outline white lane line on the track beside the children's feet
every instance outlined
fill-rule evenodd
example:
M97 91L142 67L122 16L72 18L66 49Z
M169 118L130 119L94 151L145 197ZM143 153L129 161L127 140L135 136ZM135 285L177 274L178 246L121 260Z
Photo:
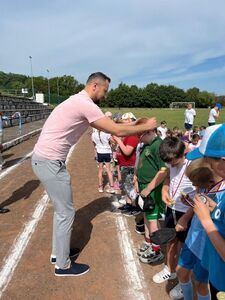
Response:
M127 220L124 219L123 216L116 216L115 220L118 229L117 234L120 251L123 257L127 281L130 285L128 298L135 300L151 300L141 266L137 259L135 259L133 253L135 248L128 228Z

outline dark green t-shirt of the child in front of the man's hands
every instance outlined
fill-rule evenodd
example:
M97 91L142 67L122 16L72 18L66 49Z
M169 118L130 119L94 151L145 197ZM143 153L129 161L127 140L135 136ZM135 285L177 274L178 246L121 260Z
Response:
M161 142L162 140L159 137L155 137L150 144L145 144L141 149L136 171L139 184L151 182L157 172L165 167L165 163L159 156Z

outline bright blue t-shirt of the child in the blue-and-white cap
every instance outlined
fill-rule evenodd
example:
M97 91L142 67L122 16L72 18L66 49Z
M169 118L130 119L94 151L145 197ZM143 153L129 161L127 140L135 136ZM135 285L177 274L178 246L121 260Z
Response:
M213 223L225 239L225 192L217 194L217 206L211 214ZM225 261L220 257L208 236L201 264L209 272L209 280L219 291L225 292Z

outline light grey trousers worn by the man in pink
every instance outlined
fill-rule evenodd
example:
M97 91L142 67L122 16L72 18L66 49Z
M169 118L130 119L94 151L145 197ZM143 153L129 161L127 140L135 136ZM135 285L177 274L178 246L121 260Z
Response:
M33 154L32 168L53 202L52 254L56 255L57 267L70 264L70 239L75 216L70 175L65 162L48 160Z

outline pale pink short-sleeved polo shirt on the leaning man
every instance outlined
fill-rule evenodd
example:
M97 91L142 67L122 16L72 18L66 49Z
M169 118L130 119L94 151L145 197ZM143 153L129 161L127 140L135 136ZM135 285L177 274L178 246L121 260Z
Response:
M46 120L34 153L51 160L66 160L67 154L89 124L105 117L83 90L58 105Z

